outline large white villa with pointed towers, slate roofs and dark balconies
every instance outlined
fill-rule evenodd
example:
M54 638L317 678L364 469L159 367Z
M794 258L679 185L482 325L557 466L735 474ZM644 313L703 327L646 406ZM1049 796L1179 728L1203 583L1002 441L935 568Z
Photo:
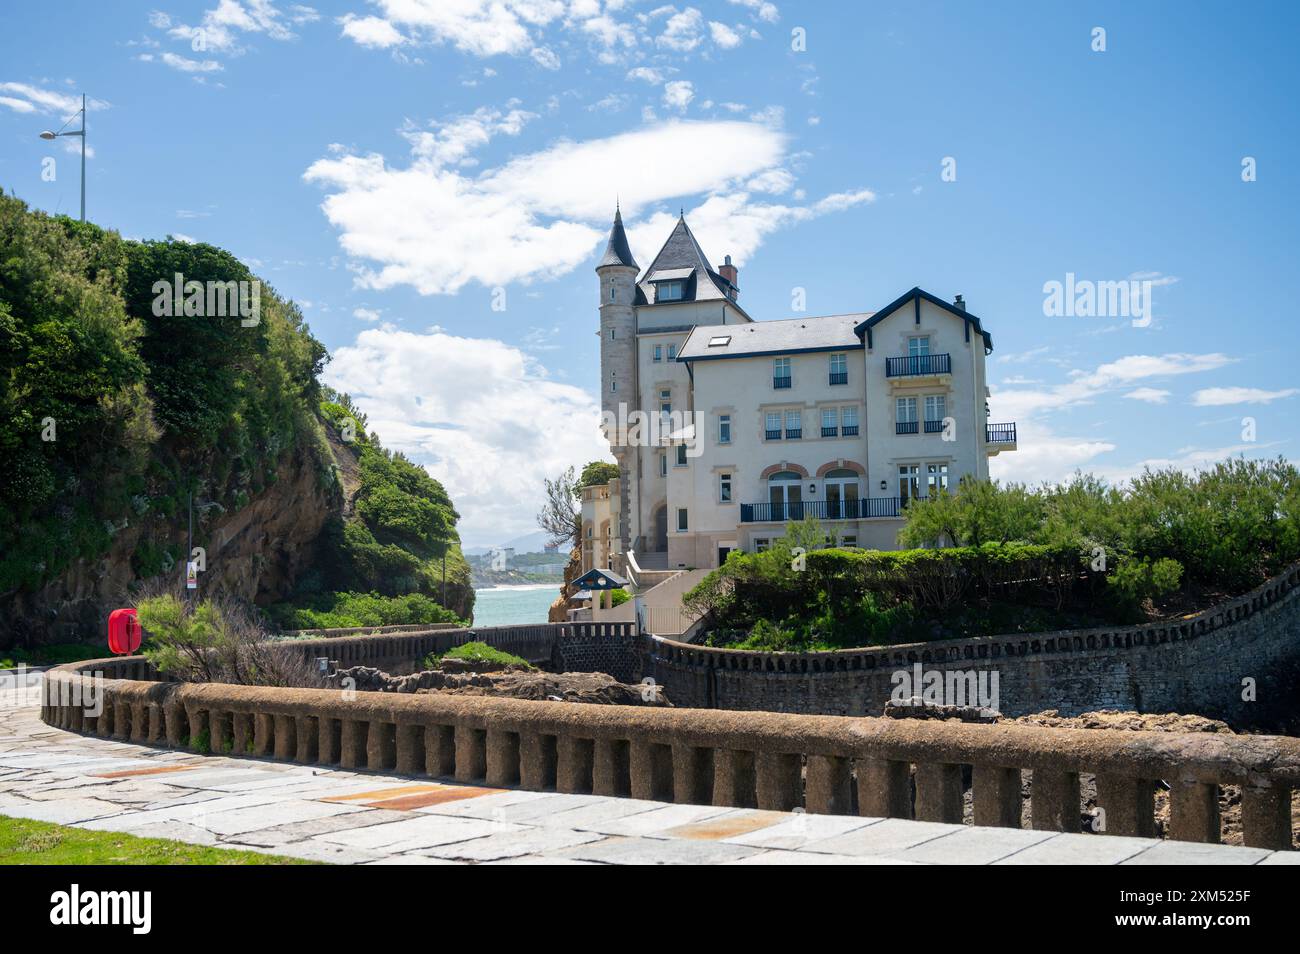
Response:
M841 545L896 548L909 500L1015 450L1015 425L987 420L993 339L961 295L755 321L731 256L714 269L684 217L642 273L619 212L595 272L607 421L672 424L654 441L607 426L620 477L582 493L584 571L628 572L629 551L633 571L708 569L809 515Z

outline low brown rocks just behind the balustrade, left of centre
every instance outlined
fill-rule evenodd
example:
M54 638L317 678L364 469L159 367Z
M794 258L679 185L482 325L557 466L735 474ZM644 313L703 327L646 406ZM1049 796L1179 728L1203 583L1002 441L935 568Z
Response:
M370 693L447 693L597 706L672 706L659 686L619 682L603 672L537 672L516 665L494 672L426 669L410 676L390 676L368 665L355 665L326 678L326 688L343 686Z

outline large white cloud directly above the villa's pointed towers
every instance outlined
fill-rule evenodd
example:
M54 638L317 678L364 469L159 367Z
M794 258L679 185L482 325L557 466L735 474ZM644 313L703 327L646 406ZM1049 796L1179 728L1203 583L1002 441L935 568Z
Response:
M341 147L313 162L304 178L328 191L321 208L341 231L358 282L455 294L468 282L495 287L556 278L590 261L608 233L615 195L629 221L647 205L707 196L692 212L692 226L698 224L702 240L723 243L708 247L741 263L775 229L875 199L859 190L801 207L729 192L789 160L780 130L738 121L670 121L604 139L560 140L477 175L465 172L473 149L517 133L530 117L478 110L407 130L412 159L404 168ZM671 229L663 216L634 231L662 242Z

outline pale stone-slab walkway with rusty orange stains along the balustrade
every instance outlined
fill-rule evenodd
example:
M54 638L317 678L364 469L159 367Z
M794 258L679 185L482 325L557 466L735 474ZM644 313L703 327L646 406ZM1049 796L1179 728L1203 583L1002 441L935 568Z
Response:
M0 815L339 864L1295 864L1300 853L562 795L78 736L0 691ZM0 863L4 858L0 857Z

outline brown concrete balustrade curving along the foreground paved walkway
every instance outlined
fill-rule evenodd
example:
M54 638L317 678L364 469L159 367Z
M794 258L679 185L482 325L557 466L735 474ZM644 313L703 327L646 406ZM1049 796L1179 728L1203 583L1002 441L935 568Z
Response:
M121 660L112 660L109 664ZM156 745L304 764L399 771L534 790L684 803L1079 831L1079 776L1093 775L1106 834L1221 838L1218 792L1242 786L1247 845L1291 846L1300 740L1043 729L779 712L588 706L486 697L343 693L109 678L99 715L64 702L99 663L47 673L51 725ZM138 665L121 667L139 672Z

